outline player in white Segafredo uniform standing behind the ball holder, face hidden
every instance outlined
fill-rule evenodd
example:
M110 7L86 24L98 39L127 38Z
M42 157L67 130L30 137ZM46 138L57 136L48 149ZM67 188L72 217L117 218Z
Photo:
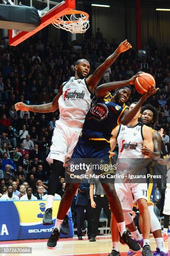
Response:
M134 108L135 105L136 102L132 103L129 107L129 110ZM139 110L128 125L117 126L117 128L112 131L113 137L111 138L110 142L112 145L112 150L116 146L116 143L118 143L118 158L122 159L120 160L120 164L122 164L122 162L126 164L128 162L127 159L130 159L130 162L132 164L133 159L144 158L141 153L141 149L143 146L147 146L148 148L153 150L151 130L146 125L138 122L138 118L140 118L140 116L141 114ZM125 171L125 173L126 172L127 171ZM115 179L115 189L122 205L126 225L132 223L133 221L131 220L131 218L129 219L128 212L132 212L134 203L138 204L140 209L139 223L142 230L143 239L140 233L136 231L135 226L134 230L132 230L132 235L141 246L144 243L142 255L147 254L147 256L151 256L152 251L150 250L149 246L150 214L147 208L147 183L124 183L123 180L121 181L119 179ZM112 222L112 227L114 226L115 223ZM110 256L118 255L116 253L116 251L118 250L118 241L116 241L117 236L115 236L115 231L115 228L112 229L112 241L114 248ZM133 254L135 253L132 253L131 255Z

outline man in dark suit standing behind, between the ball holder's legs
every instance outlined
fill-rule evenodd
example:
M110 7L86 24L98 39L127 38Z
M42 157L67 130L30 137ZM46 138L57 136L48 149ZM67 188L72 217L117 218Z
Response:
M86 209L86 218L87 218L87 233L88 238L91 237L91 222L92 222L92 208L90 201L90 172L86 172L87 179L84 178L81 180L79 185L79 192L76 199L76 209L77 209L77 236L79 240L82 238L82 228L84 226L84 209Z

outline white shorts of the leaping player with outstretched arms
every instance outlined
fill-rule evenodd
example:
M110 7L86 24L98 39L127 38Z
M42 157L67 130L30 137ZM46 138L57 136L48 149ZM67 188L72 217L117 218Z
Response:
M71 158L81 130L82 128L70 127L60 120L57 120L53 132L50 153L46 160L53 164L53 159L65 163L67 158Z

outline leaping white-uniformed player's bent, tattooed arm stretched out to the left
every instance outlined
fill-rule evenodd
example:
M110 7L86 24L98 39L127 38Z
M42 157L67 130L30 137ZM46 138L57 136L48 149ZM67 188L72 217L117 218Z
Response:
M17 102L15 104L15 110L33 111L39 113L55 112L58 109L58 99L63 93L63 85L64 84L61 85L58 94L52 102L43 105L26 105L23 102Z

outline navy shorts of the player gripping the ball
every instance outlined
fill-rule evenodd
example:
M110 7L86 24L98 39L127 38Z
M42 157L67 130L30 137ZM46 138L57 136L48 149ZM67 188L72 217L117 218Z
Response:
M109 151L110 143L107 141L85 140L79 137L71 159L66 162L69 165L67 174L72 172L77 177L80 174L86 174L86 171L90 169L93 174L99 175L98 178L101 183L114 183L114 168L109 157ZM89 167L82 170L79 168L80 164ZM76 165L78 168L75 170L72 166ZM67 182L71 181L68 180Z

